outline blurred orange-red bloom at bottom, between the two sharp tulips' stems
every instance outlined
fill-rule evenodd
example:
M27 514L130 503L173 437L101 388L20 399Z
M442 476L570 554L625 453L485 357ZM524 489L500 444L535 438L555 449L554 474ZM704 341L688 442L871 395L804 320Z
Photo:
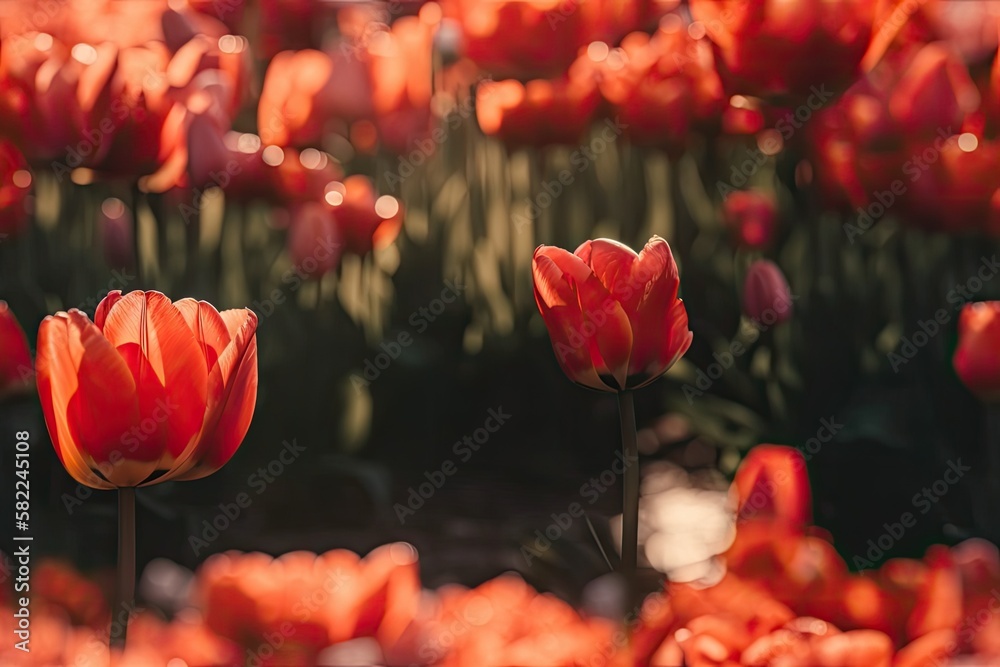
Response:
M269 637L287 637L266 664L315 665L324 648L361 637L375 638L388 653L420 605L416 551L403 543L364 558L342 549L280 558L230 551L205 561L196 599L209 628L251 653ZM409 655L391 664L415 661Z

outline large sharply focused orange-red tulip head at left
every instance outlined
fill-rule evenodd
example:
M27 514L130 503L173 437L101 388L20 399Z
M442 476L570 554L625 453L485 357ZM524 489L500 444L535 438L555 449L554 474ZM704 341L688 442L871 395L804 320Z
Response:
M199 479L221 468L257 399L257 316L120 291L94 322L76 309L38 330L38 394L59 460L98 488Z

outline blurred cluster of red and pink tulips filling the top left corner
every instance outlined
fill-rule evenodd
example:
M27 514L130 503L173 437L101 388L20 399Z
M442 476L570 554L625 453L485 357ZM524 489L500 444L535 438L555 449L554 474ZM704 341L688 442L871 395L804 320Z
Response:
M371 17L345 10L343 27L363 36L364 48L278 54L264 77L258 132L238 132L255 87L251 52L228 27L242 3L222 4L226 11L166 0L0 8L0 238L22 231L35 168L60 182L137 181L168 196L189 223L210 187L230 200L287 206L291 226L304 228L290 241L303 274L392 241L399 202L376 197L365 177L344 179L339 162L310 144L337 119L367 123L350 133L356 146L369 136L371 148L376 131L389 146L428 133L435 20L425 12L363 35ZM115 206L119 214L100 218L105 254L127 263L120 241L131 214Z

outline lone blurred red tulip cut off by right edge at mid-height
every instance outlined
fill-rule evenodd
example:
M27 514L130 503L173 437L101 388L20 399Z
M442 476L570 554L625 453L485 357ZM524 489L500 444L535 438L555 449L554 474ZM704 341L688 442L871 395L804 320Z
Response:
M952 364L969 391L988 403L1000 400L1000 301L962 308Z

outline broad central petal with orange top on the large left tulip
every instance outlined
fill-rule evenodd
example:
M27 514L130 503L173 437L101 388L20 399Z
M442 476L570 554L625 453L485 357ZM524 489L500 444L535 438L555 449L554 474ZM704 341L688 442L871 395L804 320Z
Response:
M147 453L169 468L196 444L205 416L208 370L195 335L166 296L138 291L111 308L104 335L140 388L142 423L155 425Z

